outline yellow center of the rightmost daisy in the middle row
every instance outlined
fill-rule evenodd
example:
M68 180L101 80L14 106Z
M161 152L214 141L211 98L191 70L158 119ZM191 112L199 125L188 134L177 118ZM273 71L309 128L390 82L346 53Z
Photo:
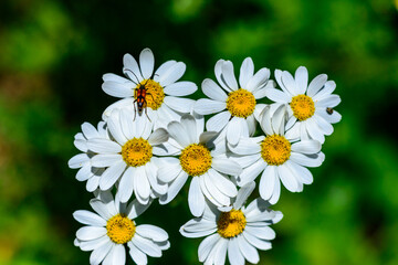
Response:
M283 136L268 136L261 142L261 157L268 165L280 166L290 158L290 155L291 144Z

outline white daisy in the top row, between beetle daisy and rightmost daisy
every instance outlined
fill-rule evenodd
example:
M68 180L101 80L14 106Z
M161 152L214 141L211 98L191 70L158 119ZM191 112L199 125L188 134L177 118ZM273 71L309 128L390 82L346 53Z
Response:
M207 130L226 128L228 142L237 145L241 136L254 134L256 100L265 97L265 92L274 87L274 83L269 81L269 68L263 67L254 74L251 57L241 65L239 84L231 61L219 60L214 73L219 85L212 80L205 80L202 91L210 99L199 99L193 109L201 115L216 114L207 121Z

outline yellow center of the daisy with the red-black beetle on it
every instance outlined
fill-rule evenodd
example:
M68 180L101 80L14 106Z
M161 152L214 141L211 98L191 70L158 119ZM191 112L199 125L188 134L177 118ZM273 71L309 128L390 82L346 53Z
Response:
M136 93L134 93L134 97L136 99L138 96L138 89L143 88L143 86L146 89L145 100L147 106L151 109L158 109L165 99L165 93L161 85L154 80L143 80L136 86Z

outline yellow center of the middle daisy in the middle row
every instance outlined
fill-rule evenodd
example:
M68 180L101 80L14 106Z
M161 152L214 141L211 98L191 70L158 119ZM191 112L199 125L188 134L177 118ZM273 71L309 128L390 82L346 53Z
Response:
M210 150L198 144L187 146L180 156L180 165L189 176L200 176L206 173L211 167Z

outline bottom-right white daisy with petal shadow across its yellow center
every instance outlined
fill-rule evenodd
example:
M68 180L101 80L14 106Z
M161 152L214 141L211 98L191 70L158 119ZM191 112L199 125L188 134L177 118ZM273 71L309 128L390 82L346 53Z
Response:
M282 219L281 212L269 210L269 203L256 199L248 208L243 204L254 189L254 182L239 190L232 208L220 211L207 205L201 218L188 221L180 229L186 237L207 236L199 245L199 262L208 265L223 265L226 258L231 265L244 265L245 261L256 264L259 252L272 247L275 232L269 226Z

